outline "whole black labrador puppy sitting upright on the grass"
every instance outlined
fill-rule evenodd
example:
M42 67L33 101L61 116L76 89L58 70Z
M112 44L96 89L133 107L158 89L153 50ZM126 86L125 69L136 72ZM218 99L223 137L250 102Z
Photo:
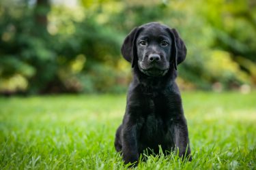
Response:
M175 83L177 65L186 57L186 46L175 29L150 22L134 28L124 40L122 55L132 63L126 113L115 135L115 149L124 163L137 165L139 155L179 151L190 157L188 127L180 91Z

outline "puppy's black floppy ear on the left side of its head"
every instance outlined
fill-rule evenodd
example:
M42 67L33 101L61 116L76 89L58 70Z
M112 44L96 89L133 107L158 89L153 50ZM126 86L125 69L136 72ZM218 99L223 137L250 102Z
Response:
M135 63L138 61L136 40L140 30L141 29L138 27L134 28L127 35L126 39L124 39L124 43L121 48L122 55L126 61L132 63L132 67L134 67Z

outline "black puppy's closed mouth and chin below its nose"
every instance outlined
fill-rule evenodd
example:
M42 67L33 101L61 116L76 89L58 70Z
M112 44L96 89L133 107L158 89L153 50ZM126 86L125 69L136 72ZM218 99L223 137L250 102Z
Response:
M150 67L145 67L142 62L139 62L139 70L145 75L149 75L152 77L161 77L165 75L168 71L169 67L160 68L158 65L150 65Z

